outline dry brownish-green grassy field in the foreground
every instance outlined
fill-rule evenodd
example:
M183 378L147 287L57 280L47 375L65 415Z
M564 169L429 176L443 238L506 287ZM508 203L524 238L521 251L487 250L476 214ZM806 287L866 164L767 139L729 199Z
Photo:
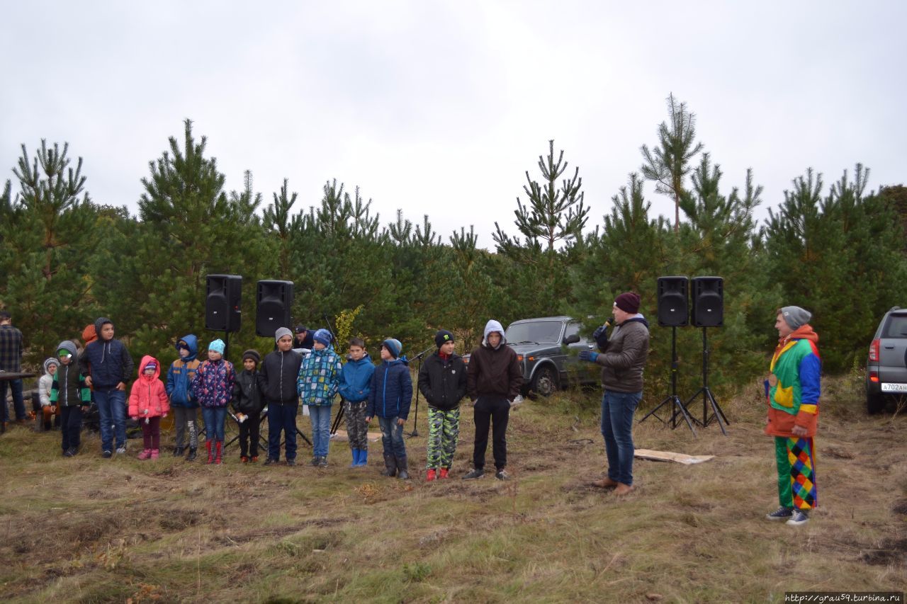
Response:
M346 468L346 443L332 443L327 469L241 465L235 449L216 467L169 453L140 462L134 443L105 461L96 436L64 459L57 434L15 427L0 437L0 598L772 602L786 590L902 590L907 419L868 418L853 380L826 382L821 507L792 528L763 519L777 505L772 444L758 386L741 390L721 400L727 437L715 424L696 439L638 425L638 448L716 458L637 460L638 489L623 499L588 485L604 463L594 392L513 411L511 482L459 480L469 413L454 479L424 482L424 407L407 482L379 475L380 443L367 468Z

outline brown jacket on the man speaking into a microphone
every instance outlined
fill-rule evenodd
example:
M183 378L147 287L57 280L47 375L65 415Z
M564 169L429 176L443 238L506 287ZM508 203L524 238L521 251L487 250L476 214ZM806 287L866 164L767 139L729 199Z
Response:
M595 362L601 368L601 385L614 392L642 392L642 370L649 357L649 324L628 319L614 328L608 347Z

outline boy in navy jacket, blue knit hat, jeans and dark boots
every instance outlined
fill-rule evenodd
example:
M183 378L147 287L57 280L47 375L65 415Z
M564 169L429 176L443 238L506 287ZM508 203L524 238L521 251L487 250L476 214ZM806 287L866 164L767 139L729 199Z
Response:
M368 394L366 424L377 416L381 425L381 443L385 447L385 475L406 480L409 468L406 462L406 444L403 424L409 415L413 399L413 380L409 376L409 361L401 357L403 345L388 338L381 343L383 363L372 375L372 391Z

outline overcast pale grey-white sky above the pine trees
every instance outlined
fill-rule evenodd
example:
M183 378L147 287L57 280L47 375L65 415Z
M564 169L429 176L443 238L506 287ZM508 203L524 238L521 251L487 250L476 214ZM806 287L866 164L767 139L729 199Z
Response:
M656 143L673 92L724 170L765 186L767 216L813 167L907 172L907 3L42 2L0 20L0 179L25 143L68 141L93 200L138 209L182 120L265 203L359 185L447 236L510 233L524 170L554 139L580 167L590 228ZM572 167L570 168L572 171ZM827 186L827 185L826 185ZM14 183L15 187L15 183ZM673 206L647 185L653 214Z

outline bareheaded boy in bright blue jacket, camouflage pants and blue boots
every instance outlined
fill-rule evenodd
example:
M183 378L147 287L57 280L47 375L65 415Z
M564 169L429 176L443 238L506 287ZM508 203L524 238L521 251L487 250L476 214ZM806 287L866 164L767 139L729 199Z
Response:
M355 468L368 463L368 422L366 407L371 392L372 375L375 365L366 352L366 342L361 337L349 341L349 356L340 374L340 395L344 398L346 414L346 436L353 452Z

